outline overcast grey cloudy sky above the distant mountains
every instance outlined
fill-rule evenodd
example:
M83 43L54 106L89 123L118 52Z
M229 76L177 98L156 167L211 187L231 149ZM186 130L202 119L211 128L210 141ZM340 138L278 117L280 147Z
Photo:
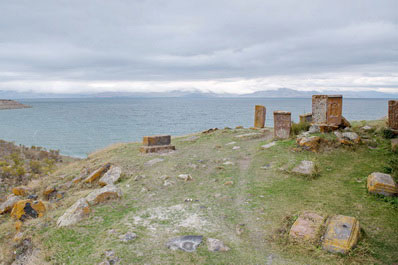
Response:
M0 1L0 90L280 87L398 92L398 1Z

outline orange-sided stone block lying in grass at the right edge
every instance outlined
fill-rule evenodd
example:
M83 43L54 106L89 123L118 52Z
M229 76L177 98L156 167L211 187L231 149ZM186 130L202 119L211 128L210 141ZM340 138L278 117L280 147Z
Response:
M370 193L393 196L398 193L398 186L391 175L373 172L368 176L368 191Z

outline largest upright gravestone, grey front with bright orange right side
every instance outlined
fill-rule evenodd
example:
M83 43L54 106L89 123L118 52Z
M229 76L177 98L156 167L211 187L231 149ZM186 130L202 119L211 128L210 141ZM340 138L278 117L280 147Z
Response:
M312 122L328 126L339 126L342 123L343 96L313 95Z

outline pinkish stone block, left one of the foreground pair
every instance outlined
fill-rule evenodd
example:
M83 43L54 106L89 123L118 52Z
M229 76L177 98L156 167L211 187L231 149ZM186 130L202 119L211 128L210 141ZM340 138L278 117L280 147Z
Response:
M298 242L315 242L321 231L325 218L312 212L301 214L292 225L289 238Z

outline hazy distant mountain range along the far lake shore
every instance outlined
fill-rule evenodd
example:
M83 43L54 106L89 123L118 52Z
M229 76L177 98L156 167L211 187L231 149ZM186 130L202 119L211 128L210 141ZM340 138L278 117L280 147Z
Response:
M184 97L184 98L310 98L315 94L343 95L346 98L398 98L398 93L377 91L299 91L289 88L257 91L250 94L216 94L200 91L169 91L169 92L104 92L95 94L51 94L34 92L0 91L0 99L28 98L152 98L152 97Z

